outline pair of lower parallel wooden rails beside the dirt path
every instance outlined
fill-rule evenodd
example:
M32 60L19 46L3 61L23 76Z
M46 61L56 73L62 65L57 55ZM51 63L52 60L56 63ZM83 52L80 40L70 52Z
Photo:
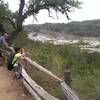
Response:
M35 96L36 100L38 100L38 98L40 99L40 97L44 98L45 100L59 100L47 93L41 86L33 81L24 69L22 69L22 75L24 77L24 80L22 80L22 82L26 83L28 87L35 92L35 94L33 94L33 92L31 94ZM28 87L27 89L30 90Z

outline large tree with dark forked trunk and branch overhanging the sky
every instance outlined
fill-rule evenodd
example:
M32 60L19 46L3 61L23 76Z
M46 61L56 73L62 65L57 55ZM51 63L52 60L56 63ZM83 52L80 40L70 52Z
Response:
M68 12L71 12L72 8L79 8L80 4L78 0L29 0L27 4L25 0L20 0L19 10L12 16L7 15L3 18L11 22L15 29L13 34L16 36L23 29L24 20L31 15L36 19L40 10L48 10L49 16L52 10L56 13L61 12L69 19Z

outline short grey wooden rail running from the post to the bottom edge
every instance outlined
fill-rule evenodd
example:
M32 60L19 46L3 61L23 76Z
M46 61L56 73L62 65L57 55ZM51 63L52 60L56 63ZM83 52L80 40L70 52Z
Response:
M68 100L80 100L79 97L74 93L74 91L72 91L72 89L65 82L61 82L60 85Z

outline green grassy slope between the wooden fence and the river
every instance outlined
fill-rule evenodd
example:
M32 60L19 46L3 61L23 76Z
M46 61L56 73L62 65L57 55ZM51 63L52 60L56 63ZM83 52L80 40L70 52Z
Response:
M81 100L100 100L100 54L88 54L80 51L76 45L41 44L29 40L25 33L21 33L14 41L29 52L29 56L40 65L51 70L63 78L64 71L72 72L72 87L77 91ZM51 94L64 100L63 93L58 85L48 76L32 67L29 73L38 84Z

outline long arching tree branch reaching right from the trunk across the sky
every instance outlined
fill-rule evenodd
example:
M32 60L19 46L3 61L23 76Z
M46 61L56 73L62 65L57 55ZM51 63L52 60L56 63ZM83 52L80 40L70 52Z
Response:
M49 11L50 13L50 9L53 8L53 10L55 10L56 12L61 12L62 14L65 14L67 19L69 19L69 16L68 16L68 12L70 12L70 7L68 5L60 5L59 3L58 4L55 4L55 3L47 3L47 2L44 2L44 3L34 3L34 4L31 4L28 8L28 10L23 14L23 19L27 18L28 16L30 15L33 15L33 14L38 14L40 10L43 10L43 9L46 9Z

